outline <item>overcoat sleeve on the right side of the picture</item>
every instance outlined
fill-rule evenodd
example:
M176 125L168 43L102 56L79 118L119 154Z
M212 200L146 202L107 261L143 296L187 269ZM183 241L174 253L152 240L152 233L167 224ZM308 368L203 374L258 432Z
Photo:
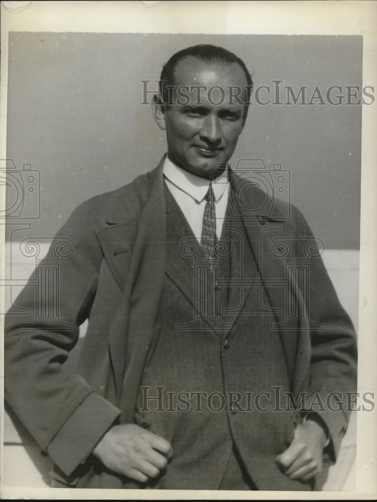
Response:
M293 208L297 242L313 238L304 216ZM297 249L297 256L300 250ZM353 285L357 288L357 284ZM352 285L350 285L352 287ZM310 258L309 319L323 329L311 330L311 357L305 405L327 426L336 456L347 428L350 406L347 393L356 392L357 349L352 322L341 306L321 256Z

